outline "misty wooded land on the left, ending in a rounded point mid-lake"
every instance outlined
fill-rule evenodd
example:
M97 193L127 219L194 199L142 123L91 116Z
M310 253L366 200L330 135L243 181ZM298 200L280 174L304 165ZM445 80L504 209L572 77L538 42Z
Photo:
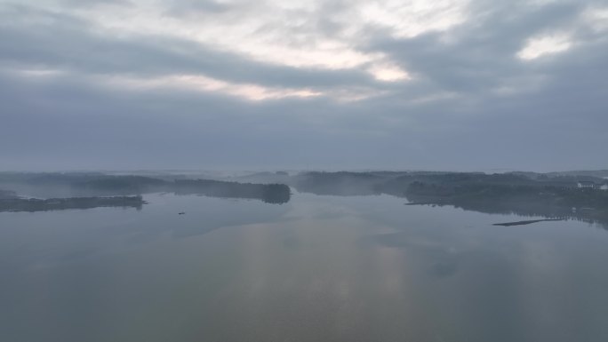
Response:
M282 173L277 176L285 177ZM183 179L180 176L153 178L141 175L109 175L100 172L0 172L0 188L7 189L0 190L0 199L10 200L4 203L6 208L19 205L24 208L105 206L106 203L118 203L117 206L127 203L127 206L130 206L134 195L167 192L176 195L256 199L271 204L287 203L292 195L289 186L279 183L256 184L220 179ZM21 199L17 194L28 194L28 197L44 199L46 202Z

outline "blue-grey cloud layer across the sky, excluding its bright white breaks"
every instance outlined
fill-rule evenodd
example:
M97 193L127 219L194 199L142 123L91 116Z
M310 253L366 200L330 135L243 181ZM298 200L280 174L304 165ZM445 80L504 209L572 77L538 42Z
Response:
M95 36L86 22L61 13L35 12L55 18L44 27L4 17L0 159L6 169L606 168L608 42L576 22L588 4L477 1L473 11L485 14L452 29L447 43L443 33L394 39L375 31L358 48L387 53L416 77L392 85L357 71L278 67L168 38ZM311 25L334 29L324 22L340 25L330 15ZM570 51L516 59L527 38L564 26L575 30ZM36 65L67 72L28 78L12 70ZM390 91L356 102L251 102L113 89L92 77L180 72L277 87ZM514 92L496 92L501 86ZM453 96L413 100L442 93Z

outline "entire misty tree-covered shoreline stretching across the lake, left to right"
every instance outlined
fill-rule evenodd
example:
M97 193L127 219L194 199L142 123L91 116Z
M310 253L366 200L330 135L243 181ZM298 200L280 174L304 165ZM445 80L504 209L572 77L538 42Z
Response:
M0 188L36 197L91 197L173 192L178 195L259 199L286 203L290 187L317 195L395 195L410 203L452 205L470 211L523 216L581 219L608 226L608 191L578 188L579 181L605 182L591 174L511 172L369 171L303 172L289 175L257 173L266 184L218 179L188 179L176 175L151 178L92 173L0 172ZM239 178L241 180L247 179ZM284 183L284 184L280 184ZM54 195L54 194L60 195ZM52 194L52 195L49 195ZM15 199L11 191L0 198ZM43 206L48 204L30 203ZM67 205L67 204L65 204Z

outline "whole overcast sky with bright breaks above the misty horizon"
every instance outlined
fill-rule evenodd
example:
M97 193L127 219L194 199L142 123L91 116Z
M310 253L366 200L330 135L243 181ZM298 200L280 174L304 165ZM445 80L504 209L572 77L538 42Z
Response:
M608 1L0 0L0 171L608 169Z

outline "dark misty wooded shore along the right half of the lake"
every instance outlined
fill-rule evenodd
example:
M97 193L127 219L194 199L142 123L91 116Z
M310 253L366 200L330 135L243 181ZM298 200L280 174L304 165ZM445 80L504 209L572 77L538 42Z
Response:
M591 176L521 173L308 172L296 188L318 195L396 195L411 203L469 211L580 219L608 226L608 191L578 188Z

